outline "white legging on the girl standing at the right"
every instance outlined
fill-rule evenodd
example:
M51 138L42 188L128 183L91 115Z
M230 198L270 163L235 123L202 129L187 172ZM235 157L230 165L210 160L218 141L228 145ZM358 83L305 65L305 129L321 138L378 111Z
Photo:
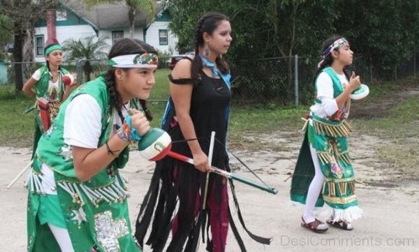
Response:
M318 199L318 195L320 195L321 188L323 187L323 182L325 181L325 176L323 175L323 172L321 171L320 164L318 163L318 157L316 153L316 149L314 149L313 146L310 144L310 153L311 153L311 159L314 163L314 178L311 181L311 184L309 186L309 191L307 192L307 200L306 205L304 209L303 218L306 223L310 223L311 221L314 221L314 206L316 205L316 201Z

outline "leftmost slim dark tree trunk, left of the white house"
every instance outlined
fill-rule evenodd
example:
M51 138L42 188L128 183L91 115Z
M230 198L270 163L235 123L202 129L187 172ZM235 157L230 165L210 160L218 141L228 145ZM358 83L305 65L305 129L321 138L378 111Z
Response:
M13 61L15 61L15 91L22 91L23 88L23 68L22 68L22 24L15 22L15 44L13 47Z

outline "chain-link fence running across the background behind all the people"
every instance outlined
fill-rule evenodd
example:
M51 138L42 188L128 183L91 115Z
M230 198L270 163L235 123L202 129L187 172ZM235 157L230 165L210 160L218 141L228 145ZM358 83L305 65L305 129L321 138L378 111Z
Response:
M170 57L159 58L159 68L168 68ZM361 76L365 84L381 80L416 75L418 55L394 68L374 68L371 60L362 56L355 57L351 68ZM311 103L314 96L313 75L315 66L306 57L275 57L267 59L249 59L230 63L232 66L232 90L234 103L274 103L278 105L299 105ZM12 62L2 63L7 71L8 84L15 84L16 78L24 83L36 69L44 63ZM78 84L94 79L108 69L107 60L66 61L62 65L68 71L78 73ZM22 75L17 75L21 71ZM5 79L1 76L1 79ZM159 83L158 83L159 84ZM168 85L164 83L164 85ZM153 96L151 99L153 100Z

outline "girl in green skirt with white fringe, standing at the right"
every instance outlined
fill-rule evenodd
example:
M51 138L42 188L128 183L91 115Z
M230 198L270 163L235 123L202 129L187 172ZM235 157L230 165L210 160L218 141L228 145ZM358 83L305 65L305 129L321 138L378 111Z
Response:
M351 221L362 216L355 195L355 178L346 138L351 93L360 77L347 73L353 51L348 40L334 36L323 43L322 60L314 79L315 103L305 125L305 137L291 181L291 200L305 204L301 226L325 232L328 225L353 230ZM314 216L314 207L328 205L326 223Z

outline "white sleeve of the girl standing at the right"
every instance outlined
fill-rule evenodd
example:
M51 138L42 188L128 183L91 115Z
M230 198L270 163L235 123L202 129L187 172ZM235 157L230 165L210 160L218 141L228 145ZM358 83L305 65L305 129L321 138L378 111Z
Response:
M321 101L321 110L328 116L335 114L339 108L333 97L332 78L327 73L320 73L316 80L317 98Z

